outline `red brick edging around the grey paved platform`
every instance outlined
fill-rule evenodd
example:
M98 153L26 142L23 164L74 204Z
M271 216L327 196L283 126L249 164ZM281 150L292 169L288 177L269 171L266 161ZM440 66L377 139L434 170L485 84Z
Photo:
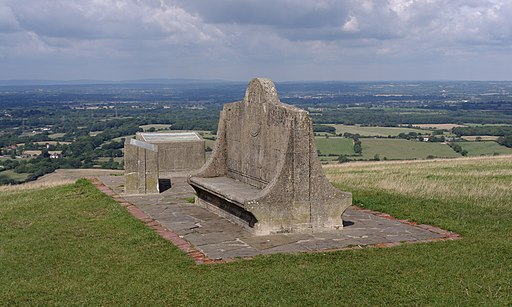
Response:
M184 240L176 233L172 232L171 230L164 227L159 221L151 218L149 215L144 213L142 210L137 208L135 205L129 203L124 198L122 198L119 194L115 193L111 188L106 186L103 182L101 182L96 177L87 177L86 179L90 180L91 183L102 193L110 196L112 199L114 199L116 202L118 202L121 206L125 207L126 210L133 215L135 218L143 222L147 227L153 229L158 235L160 235L165 240L171 242L176 247L178 247L181 251L186 253L188 256L192 257L196 264L212 264L212 263L227 263L227 262L233 262L236 259L252 259L253 257L238 257L238 258L226 258L226 259L210 259L208 256L203 254L201 251L199 251L192 243L188 242L187 240ZM426 239L426 240L416 240L416 241L405 241L405 242L390 242L390 243L378 243L378 244L369 244L369 245L356 245L356 246L350 246L350 247L343 247L343 248L334 248L334 249L319 249L315 251L307 251L304 253L321 253L321 252L331 252L331 251L338 251L338 250L353 250L353 249L362 249L362 248L387 248L387 247L393 247L398 246L404 243L407 244L415 244L415 243L425 243L425 242L435 242L435 241L449 241L449 240L458 240L462 237L454 232L434 227L427 224L418 224L415 222L411 222L408 220L401 220L397 219L387 213L382 213L378 211L363 209L360 207L357 207L355 205L352 205L352 207L358 211L362 211L364 213L368 213L371 215L375 215L381 218L385 218L392 221L398 221L403 224L408 224L414 227L418 227L427 231L430 231L432 233L441 235L440 238L434 238L434 239Z

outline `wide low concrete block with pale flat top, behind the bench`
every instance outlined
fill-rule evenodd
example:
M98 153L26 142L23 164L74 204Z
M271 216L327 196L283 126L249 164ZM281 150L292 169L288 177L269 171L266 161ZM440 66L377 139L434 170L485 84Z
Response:
M135 138L158 145L160 172L197 170L205 162L205 141L196 132L139 132Z

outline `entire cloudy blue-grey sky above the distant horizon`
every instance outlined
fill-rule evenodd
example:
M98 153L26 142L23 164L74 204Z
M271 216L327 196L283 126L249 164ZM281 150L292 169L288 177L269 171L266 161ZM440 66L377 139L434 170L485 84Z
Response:
M512 80L512 0L0 0L0 79Z

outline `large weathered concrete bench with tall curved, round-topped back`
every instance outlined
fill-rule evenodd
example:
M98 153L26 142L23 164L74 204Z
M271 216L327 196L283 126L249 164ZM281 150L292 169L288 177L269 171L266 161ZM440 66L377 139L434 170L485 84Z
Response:
M309 114L260 78L224 105L212 157L189 183L199 205L257 235L340 230L352 201L323 173Z

